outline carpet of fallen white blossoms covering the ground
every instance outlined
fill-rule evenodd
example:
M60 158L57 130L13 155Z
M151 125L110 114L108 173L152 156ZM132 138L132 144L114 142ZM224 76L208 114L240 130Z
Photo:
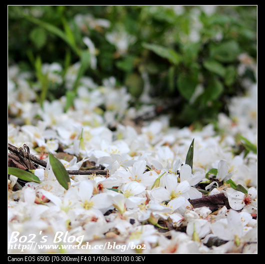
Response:
M48 67L59 70L56 64ZM47 166L34 170L41 183L27 182L19 189L13 188L17 177L9 175L8 241L16 232L16 243L28 245L26 238L34 234L35 244L43 244L44 235L50 245L61 232L82 240L65 238L60 244L81 242L91 247L27 246L23 253L256 252L257 156L234 151L238 134L256 144L256 85L231 100L229 117L219 114L216 132L212 124L200 130L169 127L168 116L141 127L122 124L121 118L130 120L153 106L128 107L130 96L125 88L115 88L113 77L100 87L83 77L73 107L66 112L64 97L44 101L43 107L31 102L34 93L26 78L17 67L9 69L9 111L19 118L8 123L8 142L17 147L25 143ZM99 108L102 104L105 111ZM192 139L191 168L185 158ZM70 175L66 190L56 180L47 154L55 155L58 149L67 153L67 158L59 158L66 170L89 163L107 169L107 176ZM212 168L217 174L209 180L206 173ZM226 184L228 179L247 193ZM207 193L198 188L201 183ZM228 204L215 211L190 203L218 193L224 193ZM98 246L106 242L120 247ZM9 252L21 249L10 247Z

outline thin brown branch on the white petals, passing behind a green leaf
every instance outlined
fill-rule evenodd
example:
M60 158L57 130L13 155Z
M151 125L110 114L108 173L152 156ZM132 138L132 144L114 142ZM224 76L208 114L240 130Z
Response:
M20 150L18 147L9 144L8 143L8 149L10 151L12 151L14 154L16 154L17 156L20 153ZM10 155L9 155L10 157ZM44 161L43 159L40 159L34 155L29 154L30 160L34 161L36 164L41 165L43 167L47 166L47 162ZM89 175L89 174L101 174L101 175L108 175L108 170L103 170L103 169L81 169L81 170L66 170L68 172L68 174L70 175Z

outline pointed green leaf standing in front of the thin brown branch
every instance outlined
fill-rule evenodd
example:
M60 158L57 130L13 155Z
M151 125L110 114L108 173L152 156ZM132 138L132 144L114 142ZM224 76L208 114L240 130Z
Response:
M67 173L67 170L65 169L63 164L54 155L52 155L50 152L48 154L49 154L49 163L51 165L51 169L56 179L58 180L58 182L60 183L62 187L64 187L65 189L68 189L69 184L70 184L70 178Z

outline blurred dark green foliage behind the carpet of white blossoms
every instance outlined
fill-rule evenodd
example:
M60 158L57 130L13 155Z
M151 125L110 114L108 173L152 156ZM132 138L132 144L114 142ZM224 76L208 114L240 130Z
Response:
M245 53L256 63L256 13L255 5L10 5L8 64L35 72L42 83L40 101L67 92L69 105L82 75L98 85L114 76L137 105L147 73L149 95L159 105L177 99L168 107L173 124L206 123L227 110L229 97L244 91L245 79L255 82L253 68L238 55ZM95 46L90 54L96 57L94 68L89 66L85 36ZM68 91L64 83L51 88L40 71L44 62L58 62L63 78L76 61L82 67ZM244 72L238 74L244 63Z

